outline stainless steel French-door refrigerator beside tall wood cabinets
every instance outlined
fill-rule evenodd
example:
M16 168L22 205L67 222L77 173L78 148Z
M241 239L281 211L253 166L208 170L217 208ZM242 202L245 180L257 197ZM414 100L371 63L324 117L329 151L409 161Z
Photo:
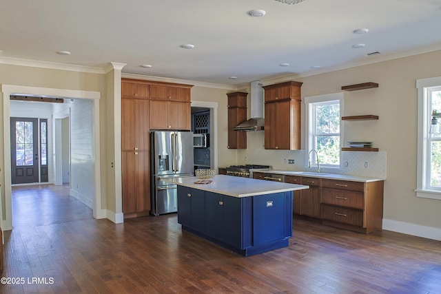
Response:
M159 216L178 211L177 186L165 178L193 176L193 133L151 132L150 174L152 176L151 213Z

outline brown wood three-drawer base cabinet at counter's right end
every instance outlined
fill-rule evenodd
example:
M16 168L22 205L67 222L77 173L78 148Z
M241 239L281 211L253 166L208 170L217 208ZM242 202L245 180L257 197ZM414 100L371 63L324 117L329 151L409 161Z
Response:
M336 227L371 233L382 229L383 181L322 179L321 218Z

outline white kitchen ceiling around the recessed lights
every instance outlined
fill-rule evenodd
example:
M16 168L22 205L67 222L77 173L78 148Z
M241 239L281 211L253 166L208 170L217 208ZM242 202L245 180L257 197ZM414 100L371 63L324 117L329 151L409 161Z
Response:
M440 50L440 29L441 0L0 0L0 63L127 63L123 73L240 85Z

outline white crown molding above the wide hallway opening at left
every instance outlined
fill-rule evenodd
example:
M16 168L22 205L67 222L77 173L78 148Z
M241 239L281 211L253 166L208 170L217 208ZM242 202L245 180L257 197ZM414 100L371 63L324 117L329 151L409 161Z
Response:
M66 63L54 63L47 61L34 61L30 59L16 59L12 57L0 56L0 63L8 64L8 65L40 67L40 68L47 68L50 70L69 70L71 72L88 72L90 74L105 74L104 69L101 67L90 67L83 65L66 64Z

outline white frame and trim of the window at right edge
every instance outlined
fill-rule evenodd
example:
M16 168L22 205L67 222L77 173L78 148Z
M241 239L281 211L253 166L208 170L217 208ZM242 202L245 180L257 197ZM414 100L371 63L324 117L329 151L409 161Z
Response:
M429 92L441 87L441 76L422 78L416 81L418 89L418 134L417 134L417 187L416 196L441 200L441 188L433 188L429 185L430 165L429 151L433 139L429 136L430 128L430 105ZM436 139L438 140L438 139Z

